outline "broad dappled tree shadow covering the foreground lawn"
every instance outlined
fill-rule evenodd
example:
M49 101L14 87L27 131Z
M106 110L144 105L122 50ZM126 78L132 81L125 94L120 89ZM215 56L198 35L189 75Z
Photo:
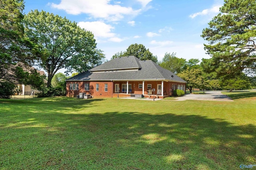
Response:
M251 124L174 113L31 113L0 121L1 168L239 169L256 163Z

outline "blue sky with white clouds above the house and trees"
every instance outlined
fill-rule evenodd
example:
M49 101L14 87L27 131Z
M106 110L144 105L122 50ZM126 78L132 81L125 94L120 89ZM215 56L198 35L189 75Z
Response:
M200 35L219 13L223 0L24 0L24 14L44 10L92 31L106 59L129 45L143 44L162 60L210 58Z

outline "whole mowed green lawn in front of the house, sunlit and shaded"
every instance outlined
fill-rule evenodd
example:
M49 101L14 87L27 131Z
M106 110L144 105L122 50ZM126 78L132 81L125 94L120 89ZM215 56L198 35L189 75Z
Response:
M256 97L234 102L0 100L0 169L240 169L256 164Z

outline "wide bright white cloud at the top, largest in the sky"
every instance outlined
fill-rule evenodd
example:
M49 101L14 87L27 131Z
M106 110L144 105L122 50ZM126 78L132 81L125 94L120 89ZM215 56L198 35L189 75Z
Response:
M136 16L141 12L141 9L133 10L131 7L120 6L120 4L112 5L110 0L61 0L60 4L51 3L50 5L59 10L65 10L68 14L84 13L108 21L120 21L124 15Z

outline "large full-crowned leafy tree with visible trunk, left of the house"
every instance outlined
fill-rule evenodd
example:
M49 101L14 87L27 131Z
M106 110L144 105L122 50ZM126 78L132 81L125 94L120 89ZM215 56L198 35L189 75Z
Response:
M34 10L25 15L24 25L26 36L38 43L43 54L38 64L48 74L48 87L61 68L66 68L67 72L73 68L78 72L86 71L104 57L96 49L92 32L66 18Z

